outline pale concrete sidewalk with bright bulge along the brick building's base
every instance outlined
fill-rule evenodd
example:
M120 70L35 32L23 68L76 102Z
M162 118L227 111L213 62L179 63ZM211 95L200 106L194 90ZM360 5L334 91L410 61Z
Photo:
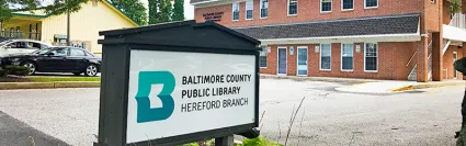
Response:
M352 78L328 78L328 77L296 77L296 76L274 76L261 75L265 79L292 79L297 81L328 81L343 82L350 86L336 88L338 91L359 92L359 93L394 93L414 89L437 88L445 86L465 86L464 80L444 80L444 81L399 81L399 80L374 80L374 79L352 79Z

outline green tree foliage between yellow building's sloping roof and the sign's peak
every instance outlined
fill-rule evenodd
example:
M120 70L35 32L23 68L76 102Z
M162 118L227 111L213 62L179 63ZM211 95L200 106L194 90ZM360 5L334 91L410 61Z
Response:
M111 2L137 24L147 24L146 8L140 0L112 0Z

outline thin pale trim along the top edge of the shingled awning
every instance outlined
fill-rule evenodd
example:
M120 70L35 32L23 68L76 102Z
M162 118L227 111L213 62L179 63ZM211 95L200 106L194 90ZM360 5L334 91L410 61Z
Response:
M419 13L401 14L401 15L384 15L384 16L371 16L371 18L354 18L354 19L340 19L340 20L322 20L311 22L298 22L298 23L286 23L286 24L270 24L260 26L243 26L243 27L231 27L232 30L252 29L252 27L269 27L269 26L287 26L287 25L299 25L299 24L315 24L315 23L330 23L330 22L344 22L344 21L359 21L359 20L376 20L376 19L390 19L390 18L406 18L406 16L420 16Z

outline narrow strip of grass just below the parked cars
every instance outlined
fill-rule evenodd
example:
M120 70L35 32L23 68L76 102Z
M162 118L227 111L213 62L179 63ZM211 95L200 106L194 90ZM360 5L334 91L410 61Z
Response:
M101 81L100 77L0 77L0 82Z

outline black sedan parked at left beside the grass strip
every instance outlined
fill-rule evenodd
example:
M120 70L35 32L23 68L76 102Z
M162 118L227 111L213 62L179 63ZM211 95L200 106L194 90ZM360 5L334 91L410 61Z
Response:
M48 47L30 54L12 54L0 58L0 66L20 65L34 72L72 72L96 76L102 59L82 48Z

